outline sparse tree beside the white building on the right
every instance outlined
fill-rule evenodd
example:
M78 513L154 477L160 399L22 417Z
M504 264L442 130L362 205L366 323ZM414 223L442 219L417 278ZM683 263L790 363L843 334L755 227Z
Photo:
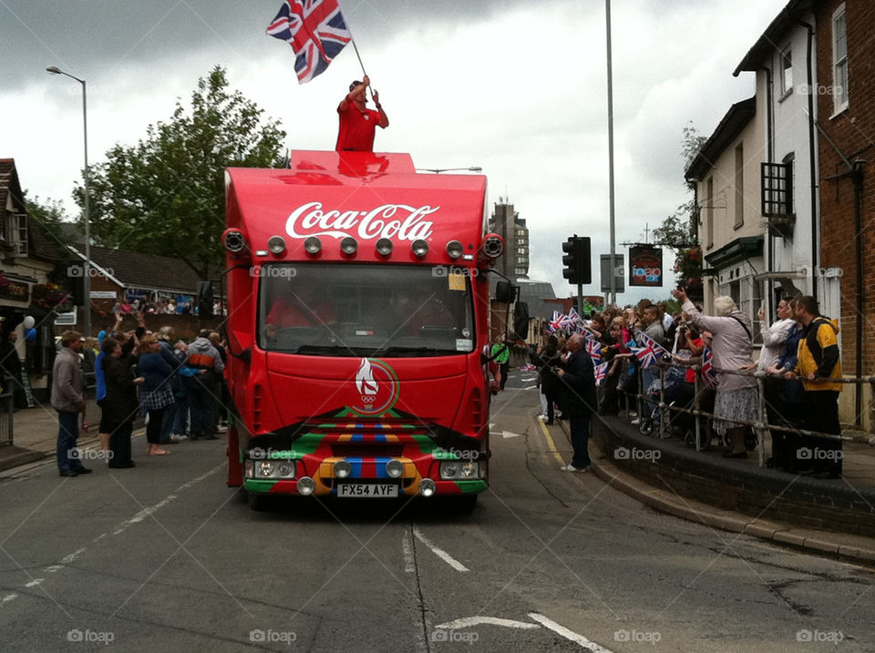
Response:
M684 139L681 143L681 156L684 158L684 169L689 168L699 149L705 145L707 138L699 136L693 123L687 123L684 128ZM687 189L692 192L691 187ZM654 239L674 250L674 272L678 284L690 297L702 297L702 248L697 242L699 212L695 199L690 198L675 209L674 213L663 220L654 229Z

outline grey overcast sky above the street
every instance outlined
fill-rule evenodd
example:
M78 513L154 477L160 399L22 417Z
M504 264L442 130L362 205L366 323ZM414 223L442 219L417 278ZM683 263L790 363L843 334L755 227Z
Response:
M683 128L708 136L754 93L732 71L786 0L613 0L617 242L644 238L686 199ZM225 66L231 86L279 118L287 146L333 149L335 107L361 77L347 47L299 86L292 49L265 36L280 0L0 0L0 157L15 158L30 196L70 210L88 154L135 143ZM561 242L592 237L593 276L609 250L603 0L341 0L391 119L378 151L420 168L479 166L489 202L527 220L530 278L559 296ZM618 251L626 253L624 248ZM666 251L664 263L673 257ZM621 302L662 291L626 292ZM598 286L584 291L599 294Z

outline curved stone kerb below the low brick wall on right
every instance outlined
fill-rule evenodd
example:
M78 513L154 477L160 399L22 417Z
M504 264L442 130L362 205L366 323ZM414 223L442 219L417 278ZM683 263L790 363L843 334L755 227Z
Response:
M561 420L557 422L562 433L571 442L568 425ZM681 498L668 489L648 485L631 474L617 469L605 458L601 446L593 438L590 438L590 454L592 471L596 476L654 510L732 533L744 533L770 540L783 546L796 546L818 555L829 554L850 558L869 566L875 564L875 540L870 538L800 528L768 519L752 519L747 515ZM860 546L861 540L865 540L866 545Z

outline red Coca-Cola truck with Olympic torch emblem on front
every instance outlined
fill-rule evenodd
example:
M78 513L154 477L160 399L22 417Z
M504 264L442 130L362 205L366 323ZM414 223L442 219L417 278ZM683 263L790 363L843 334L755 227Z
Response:
M228 485L455 496L489 480L486 178L295 151L226 174Z

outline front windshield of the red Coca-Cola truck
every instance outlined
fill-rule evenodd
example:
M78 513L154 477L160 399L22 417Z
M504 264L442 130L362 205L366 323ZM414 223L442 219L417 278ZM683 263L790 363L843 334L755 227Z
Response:
M315 356L447 356L476 335L466 270L445 266L265 264L259 344Z

